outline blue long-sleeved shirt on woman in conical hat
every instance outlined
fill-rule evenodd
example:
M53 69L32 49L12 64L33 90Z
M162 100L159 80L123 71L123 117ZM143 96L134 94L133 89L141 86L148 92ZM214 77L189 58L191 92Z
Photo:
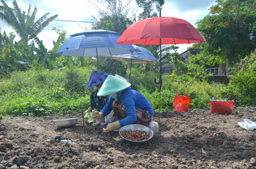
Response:
M114 98L109 98L106 106L103 107L101 112L103 113L103 117L107 116L110 114L112 111L112 102L114 101ZM154 116L154 110L152 109L151 104L148 102L148 100L140 93L134 90L131 90L131 88L124 89L117 101L117 103L123 102L125 112L127 113L127 117L119 120L120 126L123 127L125 125L131 124L136 121L136 109L135 106L142 109L146 110L150 113L150 115L153 117Z

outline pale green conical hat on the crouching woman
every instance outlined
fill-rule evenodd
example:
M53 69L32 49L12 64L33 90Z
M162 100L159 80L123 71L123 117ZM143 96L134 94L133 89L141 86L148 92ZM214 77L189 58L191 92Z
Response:
M116 92L120 92L124 89L127 89L131 86L130 83L112 75L108 75L107 79L99 89L98 96L111 95Z

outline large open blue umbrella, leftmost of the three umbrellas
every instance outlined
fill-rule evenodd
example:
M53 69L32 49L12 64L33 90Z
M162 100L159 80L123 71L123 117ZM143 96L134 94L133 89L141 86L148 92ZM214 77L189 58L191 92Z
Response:
M132 45L116 44L120 33L107 30L88 30L71 35L59 48L59 56L112 56L117 54L132 54L135 48Z

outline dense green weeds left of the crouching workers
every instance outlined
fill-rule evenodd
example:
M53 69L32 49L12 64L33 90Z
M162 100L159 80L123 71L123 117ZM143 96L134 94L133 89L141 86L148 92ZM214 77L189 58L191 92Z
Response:
M35 68L10 74L7 83L0 83L0 114L46 115L75 112L90 107L86 89L91 74L88 68L47 71Z

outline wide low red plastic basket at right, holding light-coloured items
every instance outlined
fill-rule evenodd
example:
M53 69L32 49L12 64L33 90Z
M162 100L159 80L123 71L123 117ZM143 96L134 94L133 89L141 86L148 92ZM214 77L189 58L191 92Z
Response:
M234 100L231 101L210 101L211 113L231 114L233 111Z

